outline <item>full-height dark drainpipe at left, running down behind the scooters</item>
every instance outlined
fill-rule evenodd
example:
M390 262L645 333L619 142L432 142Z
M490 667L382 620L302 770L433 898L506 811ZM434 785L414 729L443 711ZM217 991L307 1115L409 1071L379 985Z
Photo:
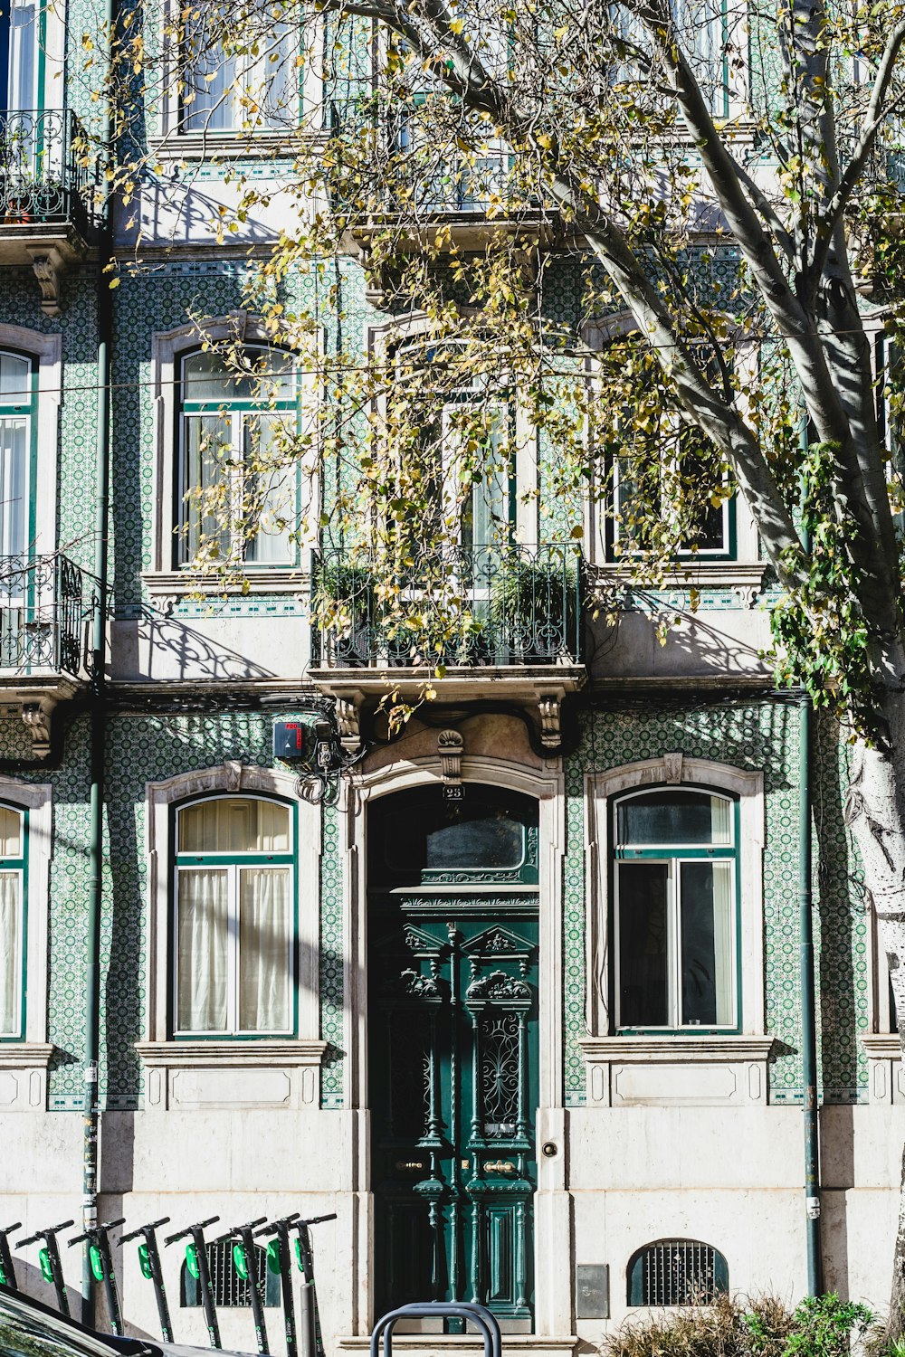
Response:
M104 22L113 41L115 0L107 0ZM113 83L104 98L102 153L113 157L110 138ZM106 166L104 166L106 168ZM81 1228L98 1223L98 1137L100 1133L99 1083L100 1061L100 909L103 902L103 805L107 744L106 634L107 634L107 539L110 528L110 345L113 335L113 301L107 265L113 259L111 194L106 175L102 178L100 221L98 231L98 441L95 449L95 594L91 619L91 818L88 840L88 920L85 955L85 1049L84 1049L84 1133L81 1177ZM88 1240L81 1259L81 1322L95 1327L95 1284L88 1255Z

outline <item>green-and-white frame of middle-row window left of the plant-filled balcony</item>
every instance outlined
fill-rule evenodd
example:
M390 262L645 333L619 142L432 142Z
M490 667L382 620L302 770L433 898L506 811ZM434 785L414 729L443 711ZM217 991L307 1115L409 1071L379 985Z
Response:
M244 354L254 354L258 357L263 357L270 353L280 354L288 358L293 357L288 349L281 349L278 345L247 343L242 346L242 350ZM175 540L174 540L175 569L185 569L191 562L191 552L189 550L190 520L189 520L187 495L191 493L194 487L189 484L189 474L187 474L187 430L189 430L187 421L199 419L204 417L229 419L232 432L235 433L236 429L244 432L248 423L247 417L263 415L265 418L269 418L273 415L286 415L286 417L294 415L296 430L299 430L301 419L301 408L300 408L301 384L299 380L297 369L292 370L294 391L290 398L269 400L266 398L231 395L224 399L214 400L210 398L208 399L198 396L193 398L191 395L189 395L187 387L190 385L190 383L186 379L186 364L202 351L204 351L202 349L194 347L194 349L186 349L183 353L178 356L179 399L176 402L176 440L175 440L176 475L174 478L174 491L176 499L174 505L174 522L176 524ZM213 350L213 354L216 356L216 350ZM242 433L239 438L231 441L231 448L236 453L242 452ZM237 457L236 460L239 461L242 459ZM293 475L294 478L292 512L293 516L297 516L300 510L299 475L293 472L289 474ZM232 475L235 475L236 479L240 479L243 472L236 465ZM225 525L225 528L227 531L229 531L228 524ZM227 556L227 562L235 560L236 565L242 566L243 571L247 570L255 574L259 571L266 573L269 570L290 570L299 565L299 546L293 540L292 533L289 533L286 539L286 556L285 559L280 560L250 560L248 547L252 540L255 539L243 540L242 550L237 552L233 552L232 550L233 544L231 543L231 550Z

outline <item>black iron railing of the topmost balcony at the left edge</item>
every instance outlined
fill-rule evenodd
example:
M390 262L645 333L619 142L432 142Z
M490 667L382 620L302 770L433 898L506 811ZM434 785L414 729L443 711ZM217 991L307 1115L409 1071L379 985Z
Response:
M62 109L0 113L0 229L88 224L92 174L81 123Z

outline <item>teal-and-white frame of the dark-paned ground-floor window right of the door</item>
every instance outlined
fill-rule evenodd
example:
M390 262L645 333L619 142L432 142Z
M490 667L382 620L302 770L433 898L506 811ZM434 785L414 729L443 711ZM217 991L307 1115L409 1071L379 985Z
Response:
M700 795L701 798L716 797L720 801L726 801L731 806L731 828L733 828L733 841L727 845L716 844L681 844L681 843L661 843L661 844L642 844L642 845L623 845L619 841L619 807L625 805L628 801L638 801L646 797L662 795L668 791L681 791L692 795ZM612 832L612 854L611 854L611 871L609 871L609 898L613 902L611 911L611 957L613 958L612 965L612 982L611 982L611 1012L615 1015L615 1030L619 1035L663 1035L663 1037L677 1037L677 1035L695 1035L695 1037L708 1037L708 1035L733 1035L741 1033L742 1027L742 965L741 965L741 806L739 799L735 795L730 795L727 791L719 787L706 787L695 784L693 787L681 786L644 786L636 787L631 791L619 792L619 795L609 798L609 813L611 813L611 832ZM663 1025L628 1025L621 1023L620 1018L620 897L619 897L619 864L627 862L649 862L649 863L668 863L672 864L670 879L676 879L676 870L684 862L730 862L733 864L733 1007L735 1014L734 1023L719 1025L719 1023L680 1023L668 1022ZM673 920L678 915L678 896L670 890L669 911ZM673 927L670 930L672 938L678 938L678 928ZM668 951L669 969L676 977L676 984L670 988L673 991L672 996L672 1012L670 1016L676 1019L681 1016L681 965L680 957L676 954L677 943L673 940L673 950ZM669 996L669 989L668 989ZM669 1001L669 997L668 997Z

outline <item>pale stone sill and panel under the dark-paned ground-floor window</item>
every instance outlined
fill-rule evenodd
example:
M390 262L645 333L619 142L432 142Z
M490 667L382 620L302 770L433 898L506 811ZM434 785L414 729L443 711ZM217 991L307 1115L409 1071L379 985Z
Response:
M592 1107L767 1102L772 1037L585 1037Z

